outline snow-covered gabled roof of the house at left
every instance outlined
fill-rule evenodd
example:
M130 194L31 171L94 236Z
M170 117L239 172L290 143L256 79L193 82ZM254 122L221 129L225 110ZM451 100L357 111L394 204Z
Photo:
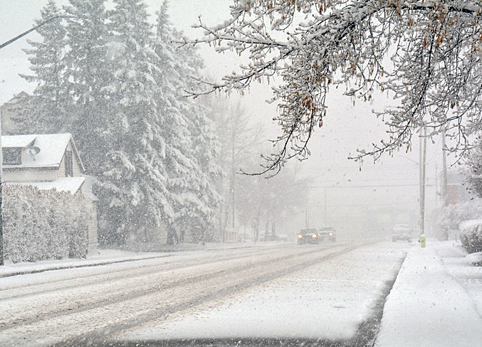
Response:
M34 139L33 143L31 139ZM55 168L60 166L68 144L72 145L75 157L78 160L81 171L85 171L82 161L78 156L71 134L42 134L42 135L10 135L2 136L1 144L5 148L21 147L25 149L22 153L22 164L4 165L4 168ZM31 155L28 147L36 146L40 151Z

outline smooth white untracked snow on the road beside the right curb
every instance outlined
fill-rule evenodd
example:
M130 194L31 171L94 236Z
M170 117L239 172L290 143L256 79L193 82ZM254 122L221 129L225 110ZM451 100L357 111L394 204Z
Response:
M117 338L350 338L397 273L404 247L365 246Z

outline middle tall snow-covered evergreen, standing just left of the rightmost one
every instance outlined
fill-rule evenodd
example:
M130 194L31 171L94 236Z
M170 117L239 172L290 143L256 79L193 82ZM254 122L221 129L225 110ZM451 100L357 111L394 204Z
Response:
M116 108L111 148L98 176L103 215L110 233L150 238L150 233L174 218L161 161L165 154L162 122L157 114L159 73L152 50L152 25L140 0L115 0L110 13L113 78L106 87ZM179 129L183 128L178 124Z

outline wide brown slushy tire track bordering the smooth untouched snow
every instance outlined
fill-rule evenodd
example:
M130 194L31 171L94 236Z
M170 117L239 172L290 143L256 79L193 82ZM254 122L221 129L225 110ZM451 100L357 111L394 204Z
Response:
M338 250L339 248L342 250ZM307 265L327 257L335 257L359 246L342 246L308 250L297 248L290 255L255 262L234 262L230 267L215 272L201 273L187 279L145 288L135 295L120 292L107 300L86 304L77 309L57 311L53 314L18 321L14 326L4 326L2 335L10 341L28 339L36 345L50 346L66 340L63 345L84 345L115 331L137 326L159 316L196 306L200 302L222 297L267 280L304 269ZM320 252L322 251L322 252ZM273 251L275 252L275 251ZM273 253L272 253L273 254ZM269 256L265 255L265 258ZM141 283L140 283L141 284ZM220 285L221 284L221 285ZM46 336L45 331L55 331L58 336ZM1 341L0 341L1 343Z

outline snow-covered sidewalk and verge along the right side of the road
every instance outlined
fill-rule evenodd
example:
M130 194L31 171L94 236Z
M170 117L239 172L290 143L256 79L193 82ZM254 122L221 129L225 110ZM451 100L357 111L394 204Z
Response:
M482 267L469 265L459 245L414 247L387 297L375 346L481 346L481 289Z

